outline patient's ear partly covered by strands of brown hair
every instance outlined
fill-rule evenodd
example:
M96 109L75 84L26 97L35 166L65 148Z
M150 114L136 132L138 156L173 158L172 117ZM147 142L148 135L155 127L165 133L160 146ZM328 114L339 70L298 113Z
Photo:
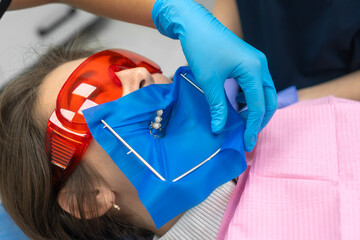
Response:
M96 196L96 203L91 204L87 201L88 198L86 197L84 201L77 203L74 196L76 193L68 191L65 186L59 193L58 203L64 211L76 218L91 219L100 217L113 207L115 203L115 193L105 186L99 186L95 188L94 191L95 192L87 193L87 195ZM83 214L80 214L80 208L82 208Z

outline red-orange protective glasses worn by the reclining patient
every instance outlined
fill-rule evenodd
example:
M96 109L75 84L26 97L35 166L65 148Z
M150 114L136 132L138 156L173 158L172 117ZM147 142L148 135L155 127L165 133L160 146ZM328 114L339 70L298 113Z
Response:
M61 88L46 136L56 191L79 163L92 139L82 110L120 98L123 86L116 72L136 67L144 67L151 74L161 73L157 64L143 56L111 49L82 62Z

